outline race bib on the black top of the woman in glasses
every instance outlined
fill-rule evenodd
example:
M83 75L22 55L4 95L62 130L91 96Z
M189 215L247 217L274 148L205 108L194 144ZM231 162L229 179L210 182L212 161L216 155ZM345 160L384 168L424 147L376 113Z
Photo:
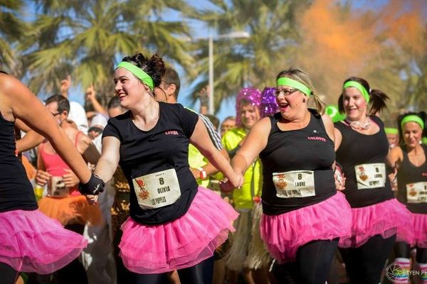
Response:
M273 173L276 196L280 198L315 196L315 172L312 170L292 170Z

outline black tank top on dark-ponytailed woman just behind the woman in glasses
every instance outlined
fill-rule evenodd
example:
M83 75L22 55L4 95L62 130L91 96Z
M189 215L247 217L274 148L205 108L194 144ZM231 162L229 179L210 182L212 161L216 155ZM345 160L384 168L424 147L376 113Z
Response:
M337 162L342 165L346 178L343 193L353 208L377 204L394 197L388 177L385 177L384 187L357 189L354 167L370 163L384 163L386 165L386 157L389 153L389 142L384 131L384 123L376 116L370 116L370 119L378 124L378 133L364 135L342 122L334 124L342 135L341 145L337 150Z

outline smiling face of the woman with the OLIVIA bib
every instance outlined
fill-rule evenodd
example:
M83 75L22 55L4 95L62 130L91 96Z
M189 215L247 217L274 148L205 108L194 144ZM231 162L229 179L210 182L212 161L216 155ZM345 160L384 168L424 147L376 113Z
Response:
M114 72L115 94L120 99L120 106L131 109L135 106L148 87L125 68L117 68Z

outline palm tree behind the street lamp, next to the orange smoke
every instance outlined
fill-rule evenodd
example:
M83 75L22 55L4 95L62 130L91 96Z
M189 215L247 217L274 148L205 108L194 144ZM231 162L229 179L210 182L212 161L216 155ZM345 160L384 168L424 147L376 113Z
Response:
M215 109L222 99L233 97L241 87L255 85L259 88L274 85L280 62L289 62L292 50L299 39L295 15L309 1L211 0L214 9L190 10L187 16L206 22L216 33L247 31L251 38L218 40L214 50ZM198 60L191 80L202 75L194 87L196 100L208 81L207 40L194 47Z

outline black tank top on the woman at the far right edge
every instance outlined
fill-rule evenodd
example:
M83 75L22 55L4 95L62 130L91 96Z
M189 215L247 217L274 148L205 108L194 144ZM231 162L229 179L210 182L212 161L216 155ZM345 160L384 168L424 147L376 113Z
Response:
M427 156L427 147L425 145L422 145L422 147L424 155ZM402 146L401 148L402 152L404 153L404 160L402 160L399 172L397 173L397 185L399 188L399 191L397 193L397 199L400 202L406 204L406 207L409 211L418 214L427 214L427 200L422 203L408 203L406 195L406 185L414 182L427 182L427 160L423 163L423 165L416 167L415 165L413 165L413 163L411 163L408 158L408 149L406 148L406 146ZM426 198L427 196L424 195L419 197Z

